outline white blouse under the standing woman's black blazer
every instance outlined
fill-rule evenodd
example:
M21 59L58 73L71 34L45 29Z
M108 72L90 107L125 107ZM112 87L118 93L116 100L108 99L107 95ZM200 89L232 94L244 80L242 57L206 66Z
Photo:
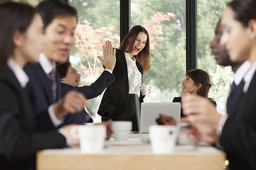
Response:
M128 53L125 53L126 63L127 63L127 73L129 80L129 94L137 94L138 97L141 94L139 86L142 84L141 72L139 72L136 66L136 59L131 59Z

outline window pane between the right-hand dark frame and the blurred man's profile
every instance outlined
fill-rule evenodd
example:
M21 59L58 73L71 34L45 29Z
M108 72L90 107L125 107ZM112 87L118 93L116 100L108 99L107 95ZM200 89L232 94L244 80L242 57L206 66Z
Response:
M210 74L212 87L209 97L217 103L217 110L225 113L229 87L233 81L231 67L218 66L209 48L214 28L230 0L197 0L197 67Z

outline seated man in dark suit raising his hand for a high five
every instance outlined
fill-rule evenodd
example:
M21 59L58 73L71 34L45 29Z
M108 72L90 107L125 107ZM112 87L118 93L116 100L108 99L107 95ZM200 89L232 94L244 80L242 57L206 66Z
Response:
M108 46L112 46L110 41L106 42L106 49L109 49ZM81 75L71 66L69 61L57 65L56 70L57 73L59 73L61 82L61 96L67 94L68 91L81 92L87 99L92 99L101 95L105 88L115 80L114 75L112 74L115 66L115 54L113 53L113 50L112 56L104 53L104 59L105 62L102 61L102 64L105 66L105 70L96 82L90 84L90 86L79 87ZM64 117L64 122L61 126L68 124L84 124L86 122L92 122L92 118L90 118L88 113L83 109L81 112L76 114L67 114Z

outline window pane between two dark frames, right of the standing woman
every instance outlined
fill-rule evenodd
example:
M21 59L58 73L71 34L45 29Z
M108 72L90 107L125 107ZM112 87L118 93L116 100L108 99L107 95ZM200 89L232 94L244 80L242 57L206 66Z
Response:
M143 25L150 34L150 70L143 84L151 85L144 101L172 101L185 78L185 0L131 0L131 28Z

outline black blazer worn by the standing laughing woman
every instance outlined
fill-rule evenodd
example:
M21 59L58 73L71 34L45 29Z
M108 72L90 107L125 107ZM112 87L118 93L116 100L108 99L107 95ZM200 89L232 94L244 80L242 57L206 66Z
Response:
M117 58L113 70L115 81L106 88L101 100L100 108L98 109L98 114L100 114L102 120L108 120L109 118L112 118L114 114L122 114L123 111L125 111L128 101L129 80L125 53L123 50L117 49L115 57ZM142 76L142 66L138 61L136 61L136 65ZM142 95L139 97L140 102L143 102L143 97L144 96Z

